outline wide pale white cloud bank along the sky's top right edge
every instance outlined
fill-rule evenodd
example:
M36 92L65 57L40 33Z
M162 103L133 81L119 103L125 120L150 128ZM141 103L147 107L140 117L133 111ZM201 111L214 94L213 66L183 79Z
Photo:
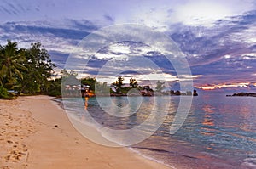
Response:
M253 9L252 0L141 2L127 5L121 14L116 14L115 23L143 24L158 31L170 31L173 24L212 27L217 20L226 20Z

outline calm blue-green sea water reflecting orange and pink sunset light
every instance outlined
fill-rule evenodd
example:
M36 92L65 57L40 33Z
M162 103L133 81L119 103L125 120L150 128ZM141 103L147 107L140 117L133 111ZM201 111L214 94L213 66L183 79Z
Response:
M256 168L256 98L225 97L219 93L194 97L183 127L175 134L170 134L170 127L180 97L171 97L171 102L170 97L165 96L111 98L120 109L113 109L104 97L97 99L84 100L83 105L78 104L77 99L66 99L67 109L82 118L83 112L78 108L85 107L97 122L118 130L141 124L155 104L156 113L167 114L150 138L130 147L148 158L174 168ZM121 117L131 112L136 113Z

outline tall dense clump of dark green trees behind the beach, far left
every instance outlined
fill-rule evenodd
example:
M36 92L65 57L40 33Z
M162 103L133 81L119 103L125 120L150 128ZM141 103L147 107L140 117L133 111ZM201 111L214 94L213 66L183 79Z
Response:
M11 41L0 45L0 98L13 98L9 90L18 94L47 93L48 79L55 67L47 50L41 48L40 42L32 43L28 49L19 49L17 45Z

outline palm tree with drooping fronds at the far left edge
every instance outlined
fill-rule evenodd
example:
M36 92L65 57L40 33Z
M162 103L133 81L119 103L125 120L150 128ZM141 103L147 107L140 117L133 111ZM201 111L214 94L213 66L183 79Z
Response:
M8 41L4 47L0 45L0 76L4 87L11 89L16 77L22 78L20 70L26 70L21 62L23 59L23 51L18 50L16 42Z

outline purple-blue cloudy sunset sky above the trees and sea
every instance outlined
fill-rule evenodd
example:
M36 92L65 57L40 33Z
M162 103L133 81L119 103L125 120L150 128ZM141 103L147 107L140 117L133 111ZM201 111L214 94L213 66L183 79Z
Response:
M84 37L106 26L138 24L172 38L186 57L198 89L256 90L255 0L0 2L0 44L10 39L20 48L29 48L32 42L41 42L57 65L56 72L65 67L70 54L78 53ZM131 67L117 65L119 61L128 65L131 60L143 63L140 59L157 66L137 64L131 71ZM167 81L174 88L181 80L163 51L139 42L102 48L81 71L83 76L96 76L109 60L114 61L114 70L127 68L121 74L127 80L134 76L140 82L147 78ZM105 76L102 81L114 78Z

